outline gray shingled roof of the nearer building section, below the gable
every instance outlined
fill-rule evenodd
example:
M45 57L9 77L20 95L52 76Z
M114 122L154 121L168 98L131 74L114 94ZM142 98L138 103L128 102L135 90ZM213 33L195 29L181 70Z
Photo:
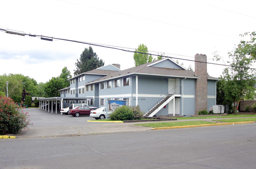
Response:
M146 64L142 64L142 65L139 65L139 66L135 66L133 68L128 68L126 70L121 70L119 72L111 73L107 76L104 76L104 77L101 77L101 78L96 79L94 81L91 81L89 83L86 83L86 85L87 84L88 85L93 84L93 83L99 83L99 82L102 82L102 81L116 79L116 78L119 78L119 77L124 77L124 76L128 76L128 75L133 75L133 74L165 76L165 77L184 77L184 78L194 78L194 79L198 78L198 77L195 76L195 72L192 72L192 71L189 71L189 70L177 70L177 69L158 68L158 67L148 66L148 65L154 64L155 62L159 62L159 61L160 60L150 62L150 63L146 63ZM208 76L208 79L220 80L216 77L211 77L211 76Z

